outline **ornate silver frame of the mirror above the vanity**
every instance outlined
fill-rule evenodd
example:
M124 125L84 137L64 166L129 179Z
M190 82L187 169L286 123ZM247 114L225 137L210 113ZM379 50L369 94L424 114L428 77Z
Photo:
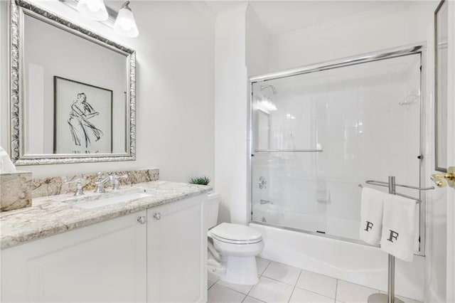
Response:
M127 48L103 36L98 35L82 26L68 21L67 19L47 11L40 6L31 4L28 0L10 0L9 9L9 115L10 149L11 159L15 165L33 164L73 164L86 162L105 161L134 161L136 160L136 51ZM88 41L97 43L110 50L122 53L126 56L127 87L129 87L129 106L125 117L129 117L129 123L125 123L125 148L126 153L115 154L88 154L87 156L73 154L25 154L24 149L24 117L23 100L25 76L23 66L23 21L24 14L38 18L39 20L56 26ZM128 102L127 102L128 104ZM129 136L128 136L129 134Z

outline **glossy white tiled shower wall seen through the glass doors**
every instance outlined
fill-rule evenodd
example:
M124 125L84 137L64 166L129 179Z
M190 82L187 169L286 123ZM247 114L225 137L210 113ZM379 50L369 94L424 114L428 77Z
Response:
M321 151L255 153L253 218L358 239L358 184L396 176L417 186L419 67L420 55L407 55L266 81L276 95L254 86L277 106L255 110L256 149Z

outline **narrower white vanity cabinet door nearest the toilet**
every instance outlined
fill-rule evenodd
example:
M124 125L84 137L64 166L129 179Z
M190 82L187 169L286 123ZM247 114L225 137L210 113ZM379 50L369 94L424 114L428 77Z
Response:
M206 195L147 211L147 301L207 301Z

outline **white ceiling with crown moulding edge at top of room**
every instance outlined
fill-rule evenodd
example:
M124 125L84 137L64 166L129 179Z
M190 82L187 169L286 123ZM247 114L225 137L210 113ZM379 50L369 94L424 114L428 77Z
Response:
M215 1L205 0L205 4L215 14L233 8L247 1ZM346 18L365 11L378 9L381 6L398 0L385 1L344 1L344 0L319 0L319 1L248 1L259 20L270 35L278 35L309 28L321 23Z

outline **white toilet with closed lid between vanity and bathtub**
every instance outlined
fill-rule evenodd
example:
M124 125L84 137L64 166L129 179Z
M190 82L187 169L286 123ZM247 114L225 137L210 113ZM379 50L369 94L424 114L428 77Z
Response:
M218 220L220 194L208 194L208 270L225 282L257 283L256 256L262 252L262 234L246 225ZM215 227L214 227L215 226Z

